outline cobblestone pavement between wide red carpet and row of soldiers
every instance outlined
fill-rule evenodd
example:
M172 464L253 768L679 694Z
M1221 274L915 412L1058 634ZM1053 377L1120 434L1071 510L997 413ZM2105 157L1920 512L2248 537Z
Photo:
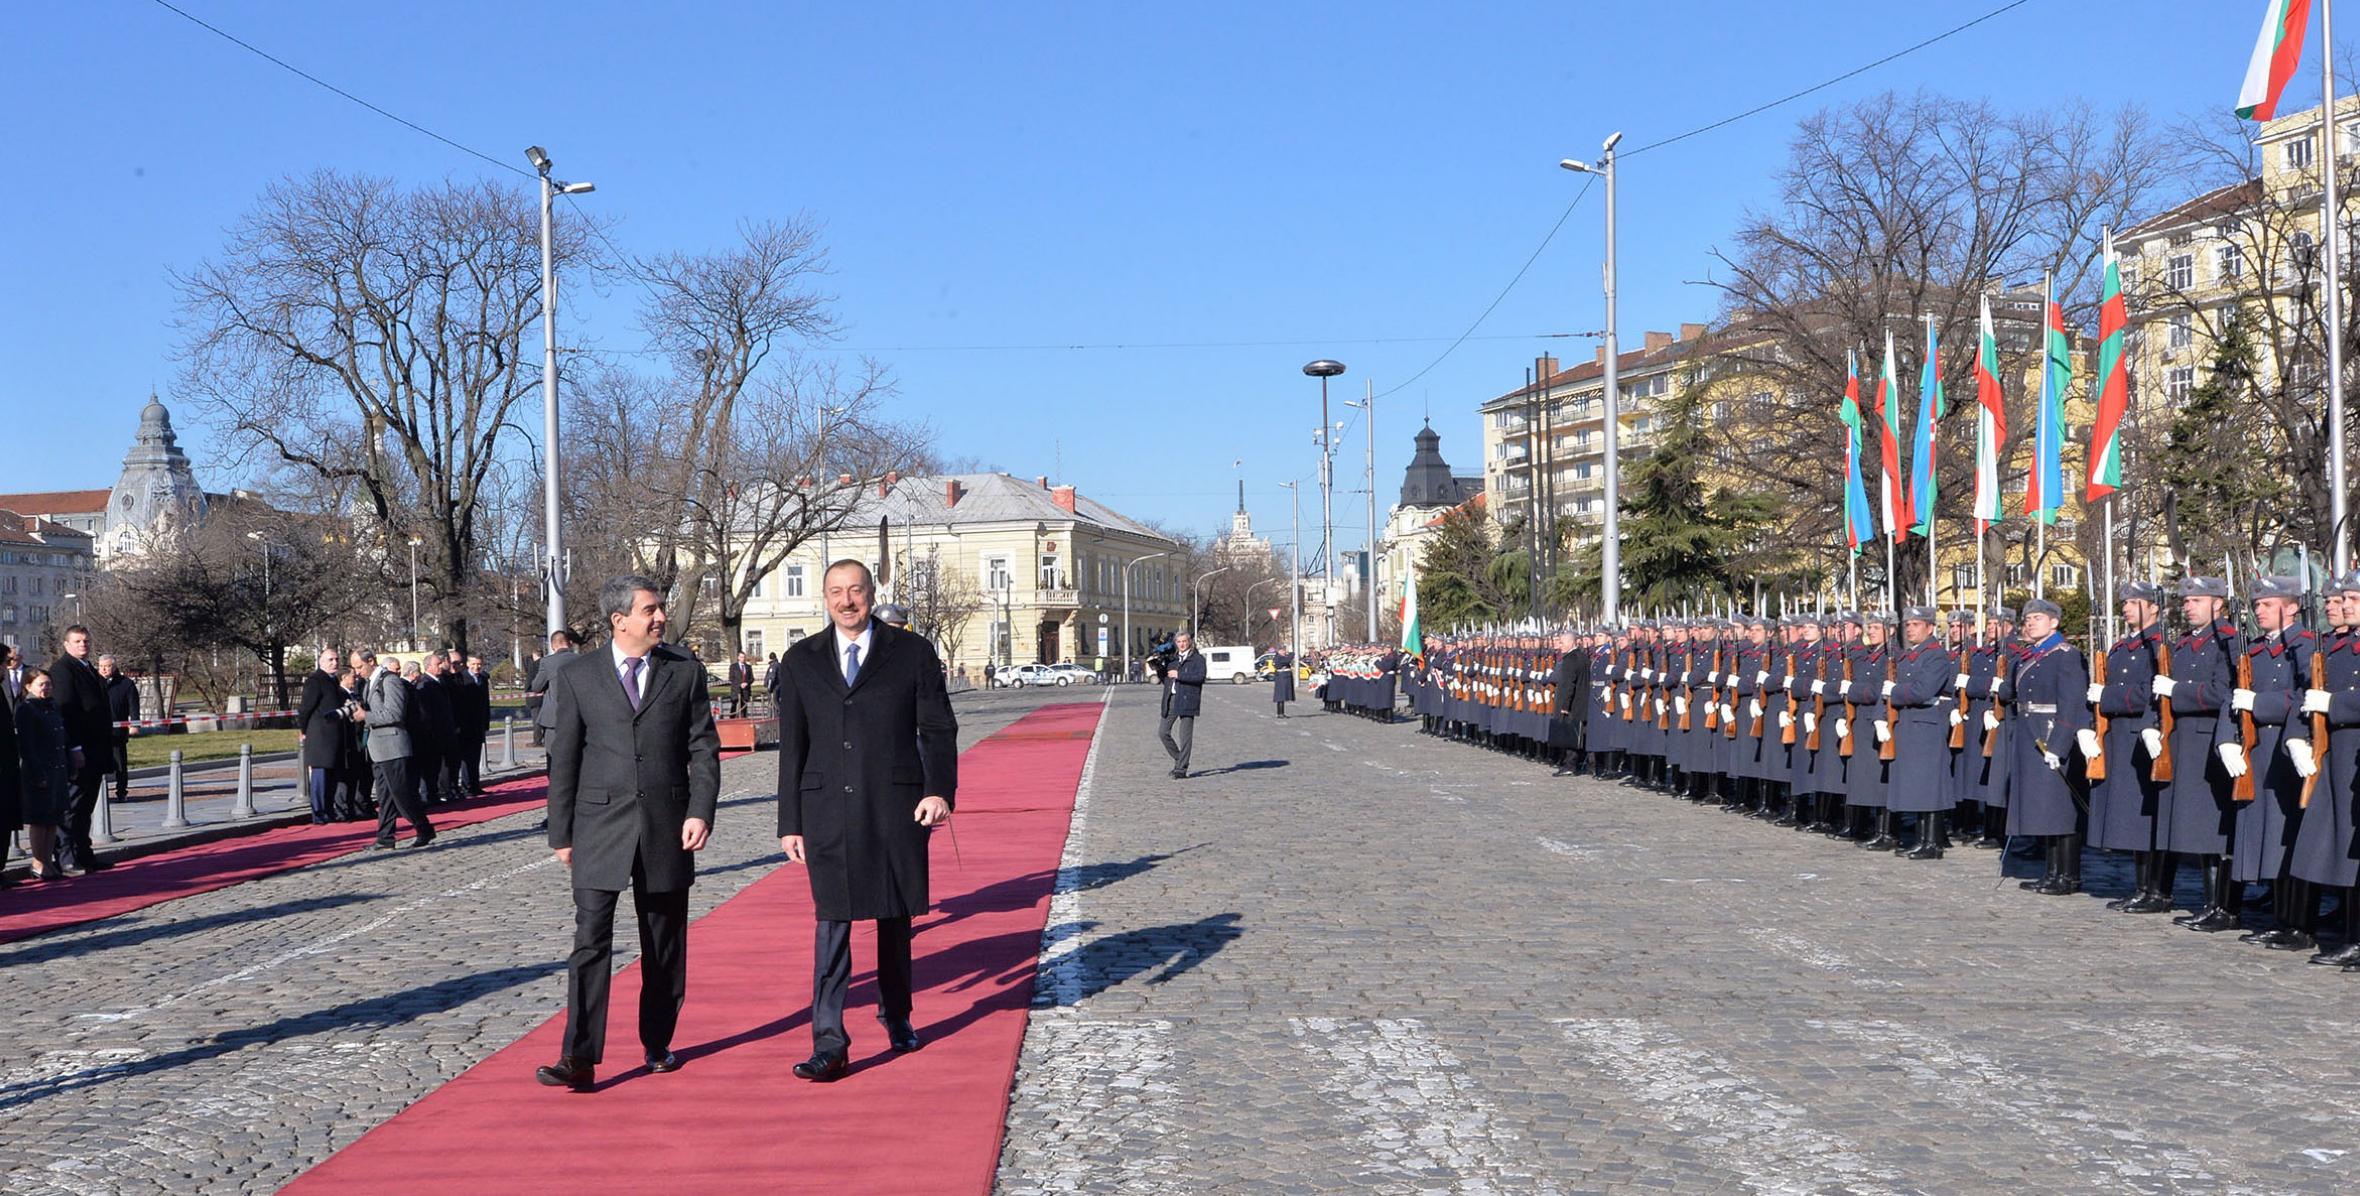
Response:
M2360 977L1213 686L1086 774L998 1191L2355 1191ZM1298 708L1300 710L1300 708Z

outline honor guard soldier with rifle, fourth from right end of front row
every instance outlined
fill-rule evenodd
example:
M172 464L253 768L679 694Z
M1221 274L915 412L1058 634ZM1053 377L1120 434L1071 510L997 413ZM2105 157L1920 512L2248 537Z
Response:
M2164 778L2155 776L2157 760L2164 760L2164 776L2171 776L2164 755L2164 734L2155 698L2157 663L2169 658L2164 627L2159 623L2164 592L2150 583L2122 587L2122 625L2129 632L2105 649L2105 679L2089 684L2089 701L2105 724L2096 743L2096 760L2105 762L2105 778L2089 783L2089 842L2107 852L2131 854L2136 885L2129 896L2107 901L2105 908L2124 913L2166 913L2171 908L2171 854L2159 849L2157 811L2164 809Z

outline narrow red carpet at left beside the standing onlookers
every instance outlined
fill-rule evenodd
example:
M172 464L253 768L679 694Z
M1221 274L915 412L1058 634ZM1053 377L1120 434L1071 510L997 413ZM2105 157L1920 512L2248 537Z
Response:
M736 755L746 753L722 753L722 760ZM434 823L437 835L489 823L491 819L538 807L548 788L548 781L540 776L500 781L484 797L430 809L427 821ZM399 835L404 845L411 842L411 823L401 823ZM378 823L283 826L257 835L130 859L104 873L80 875L64 885L19 887L0 899L5 903L5 911L0 911L0 944L349 856L366 849L375 837Z

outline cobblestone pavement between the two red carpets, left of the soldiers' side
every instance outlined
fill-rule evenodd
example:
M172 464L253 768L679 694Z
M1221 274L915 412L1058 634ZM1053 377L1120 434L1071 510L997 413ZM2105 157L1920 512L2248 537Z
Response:
M961 694L961 743L1074 696ZM691 913L784 863L776 767L769 753L722 767ZM562 1012L573 903L538 821L0 946L0 1189L274 1191ZM637 944L628 911L618 967Z

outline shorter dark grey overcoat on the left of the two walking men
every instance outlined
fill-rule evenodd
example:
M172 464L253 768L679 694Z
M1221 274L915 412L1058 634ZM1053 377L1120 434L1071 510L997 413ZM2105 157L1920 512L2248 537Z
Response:
M644 698L632 712L614 651L571 656L550 679L550 847L573 849L573 887L623 892L632 861L647 892L696 880L680 823L713 826L722 790L722 741L713 729L706 670L658 644ZM557 656L550 656L557 661ZM555 672L555 675L552 675Z

